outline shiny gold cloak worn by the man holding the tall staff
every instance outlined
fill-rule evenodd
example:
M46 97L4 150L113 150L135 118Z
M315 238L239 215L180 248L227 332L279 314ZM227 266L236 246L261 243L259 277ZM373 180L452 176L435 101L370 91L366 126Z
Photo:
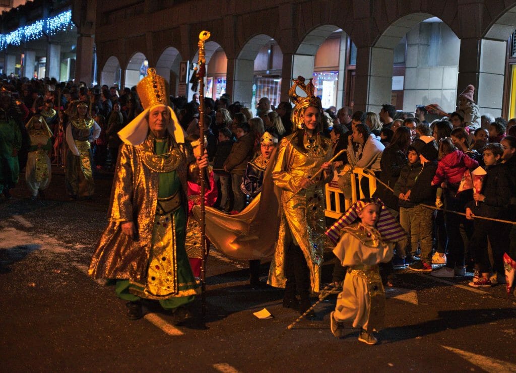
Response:
M173 137L171 136L171 141ZM175 141L174 141L175 142ZM188 214L187 176L195 157L189 144L177 144L181 161L175 168L183 188L182 207ZM94 278L141 282L146 278L152 249L152 231L158 199L157 172L144 165L142 144L122 144L111 190L108 224L91 259L88 274ZM195 171L193 171L195 172ZM135 238L122 233L120 223L133 221Z

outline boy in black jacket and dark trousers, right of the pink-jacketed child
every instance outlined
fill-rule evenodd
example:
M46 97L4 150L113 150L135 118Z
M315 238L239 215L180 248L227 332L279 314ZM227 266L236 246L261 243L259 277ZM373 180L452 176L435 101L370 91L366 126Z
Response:
M466 204L466 218L475 216L504 219L510 202L511 191L507 167L501 163L504 149L499 143L486 145L483 151L484 163L487 166L480 193L473 193L474 201ZM493 271L497 280L503 277L503 254L508 249L509 229L507 224L497 221L474 219L474 232L470 250L475 255L475 277L468 285L473 287L490 287L490 261L487 239L493 248Z

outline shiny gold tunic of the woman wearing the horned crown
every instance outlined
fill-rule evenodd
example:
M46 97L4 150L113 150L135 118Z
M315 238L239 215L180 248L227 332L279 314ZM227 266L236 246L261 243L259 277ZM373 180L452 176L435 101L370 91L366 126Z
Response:
M331 159L332 147L331 141L325 137L315 136L313 139L313 143L304 139L304 150L296 144L297 133L283 138L279 145L276 164L272 169L272 180L282 189L281 222L268 283L285 287L284 254L290 242L294 241L304 254L310 271L312 291L317 293L322 255L325 246L330 245L324 234L325 180L319 175L313 185L302 191L298 190L303 179L314 175L324 162Z

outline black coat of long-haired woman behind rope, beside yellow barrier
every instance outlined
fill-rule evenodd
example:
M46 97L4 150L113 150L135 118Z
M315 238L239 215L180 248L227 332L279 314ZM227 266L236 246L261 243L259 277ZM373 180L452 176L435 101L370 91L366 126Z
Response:
M394 188L401 169L407 164L407 156L399 148L385 148L380 160L382 170L379 176L380 181ZM373 197L381 199L385 205L395 210L398 209L398 196L399 193L394 195L392 191L380 183L377 184L376 191L373 194Z

